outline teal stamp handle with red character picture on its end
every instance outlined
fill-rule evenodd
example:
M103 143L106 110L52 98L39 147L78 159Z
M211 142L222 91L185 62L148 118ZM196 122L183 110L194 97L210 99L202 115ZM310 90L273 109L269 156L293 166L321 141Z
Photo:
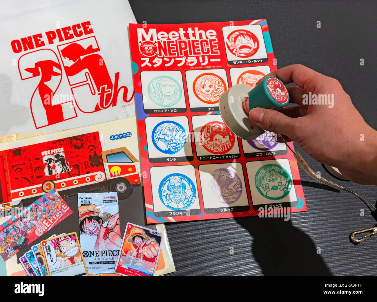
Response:
M274 76L265 77L248 93L249 98L244 102L244 111L248 114L256 107L279 109L288 105L289 93L287 87Z

